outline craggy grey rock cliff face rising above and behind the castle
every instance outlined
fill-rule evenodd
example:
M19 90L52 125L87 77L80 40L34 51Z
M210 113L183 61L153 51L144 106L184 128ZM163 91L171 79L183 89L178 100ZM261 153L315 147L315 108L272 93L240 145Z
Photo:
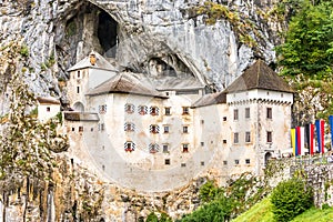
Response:
M92 49L120 69L185 72L224 88L254 59L274 61L282 26L273 1L0 1L0 47L27 47L22 72L38 94L61 97L58 79ZM221 9L226 9L221 14ZM1 64L1 75L6 71ZM3 100L3 98L2 98Z

